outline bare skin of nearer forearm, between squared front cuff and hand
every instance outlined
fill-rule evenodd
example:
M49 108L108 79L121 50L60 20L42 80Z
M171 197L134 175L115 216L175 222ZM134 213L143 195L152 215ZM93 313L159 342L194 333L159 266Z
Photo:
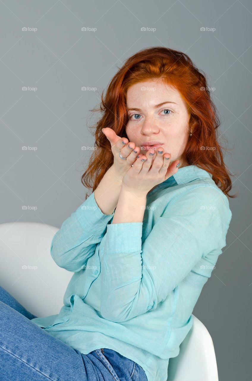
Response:
M136 194L122 185L112 224L143 222L145 207L146 194Z

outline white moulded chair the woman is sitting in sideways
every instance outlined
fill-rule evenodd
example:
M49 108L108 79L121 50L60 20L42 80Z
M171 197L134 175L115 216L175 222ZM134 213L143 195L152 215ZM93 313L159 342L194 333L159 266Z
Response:
M73 275L51 258L51 241L57 230L35 222L0 224L0 284L39 317L59 313ZM179 355L169 360L167 381L218 381L211 336L194 315Z

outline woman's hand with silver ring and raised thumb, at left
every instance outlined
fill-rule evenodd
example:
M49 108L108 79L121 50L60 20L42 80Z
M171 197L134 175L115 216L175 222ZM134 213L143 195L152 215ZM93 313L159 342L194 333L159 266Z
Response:
M112 128L104 127L102 130L111 144L111 150L114 155L113 168L116 171L116 175L123 178L124 174L136 161L137 155L139 155L139 157L142 156L142 154L139 153L140 148L136 147L134 142L129 142L127 138L121 138L120 136L116 135L115 131L112 130ZM123 144L123 142L125 144ZM125 157L126 160L123 160L119 156L120 150L121 156Z

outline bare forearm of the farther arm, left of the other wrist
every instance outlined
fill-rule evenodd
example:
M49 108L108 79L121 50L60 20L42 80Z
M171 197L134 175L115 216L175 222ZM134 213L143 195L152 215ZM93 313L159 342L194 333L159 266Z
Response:
M112 165L94 191L96 203L102 213L109 215L115 210L121 191L122 179L123 176L118 176Z

